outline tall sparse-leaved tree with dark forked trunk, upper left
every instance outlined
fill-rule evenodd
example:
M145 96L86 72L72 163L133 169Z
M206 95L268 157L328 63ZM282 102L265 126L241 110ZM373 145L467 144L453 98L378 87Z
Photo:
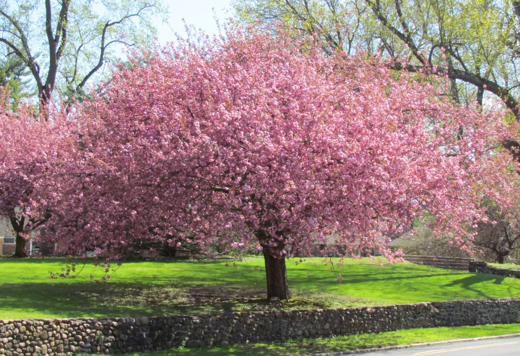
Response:
M46 104L57 87L67 97L110 60L119 44L150 43L158 1L0 1L0 42L32 76ZM121 47L119 47L121 48Z

